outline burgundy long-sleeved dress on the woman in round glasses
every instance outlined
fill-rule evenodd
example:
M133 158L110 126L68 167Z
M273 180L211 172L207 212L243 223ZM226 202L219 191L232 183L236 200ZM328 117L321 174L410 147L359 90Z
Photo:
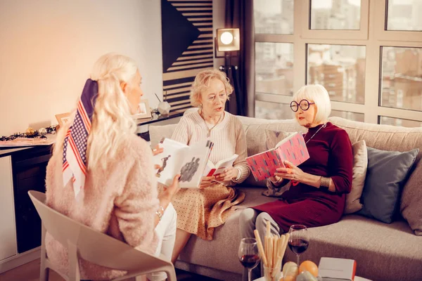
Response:
M308 174L331 178L335 192L298 183L283 192L280 200L252 207L267 212L284 232L293 224L316 227L336 223L343 214L346 193L352 188L352 145L345 130L328 122L318 131L321 126L309 129L305 135L305 142L310 138L309 159L299 168Z

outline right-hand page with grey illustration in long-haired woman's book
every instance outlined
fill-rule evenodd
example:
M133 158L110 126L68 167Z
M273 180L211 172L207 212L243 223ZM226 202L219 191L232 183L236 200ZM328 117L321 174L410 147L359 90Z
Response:
M180 165L180 188L198 188L208 160L207 141L195 143L184 152Z

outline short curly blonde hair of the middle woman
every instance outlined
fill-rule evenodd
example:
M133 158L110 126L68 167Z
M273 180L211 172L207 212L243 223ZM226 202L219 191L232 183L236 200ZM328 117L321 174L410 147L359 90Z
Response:
M223 82L227 99L230 99L230 95L233 93L233 87L230 84L229 78L226 77L224 72L213 68L212 70L203 70L196 75L191 89L191 105L194 107L200 105L200 95L203 92L203 89L210 85L212 79L219 79Z

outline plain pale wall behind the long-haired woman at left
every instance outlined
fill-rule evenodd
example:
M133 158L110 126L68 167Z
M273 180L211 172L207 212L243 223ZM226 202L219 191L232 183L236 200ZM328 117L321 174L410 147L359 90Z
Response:
M111 51L139 63L155 107L153 93L162 96L160 1L1 0L0 136L56 124L54 115L74 107L95 60Z

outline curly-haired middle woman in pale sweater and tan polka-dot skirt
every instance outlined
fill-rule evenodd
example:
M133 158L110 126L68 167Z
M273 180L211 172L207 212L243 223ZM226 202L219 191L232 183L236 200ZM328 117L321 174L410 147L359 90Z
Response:
M187 145L212 141L210 160L213 163L234 154L238 158L217 178L204 177L199 189L181 189L174 196L177 233L173 263L192 234L212 240L214 229L221 226L234 211L234 205L245 198L243 192L231 188L231 185L245 181L250 172L245 160L248 152L242 124L236 116L224 111L232 92L224 72L204 70L198 73L191 89L191 104L199 109L186 113L174 130L172 139Z

